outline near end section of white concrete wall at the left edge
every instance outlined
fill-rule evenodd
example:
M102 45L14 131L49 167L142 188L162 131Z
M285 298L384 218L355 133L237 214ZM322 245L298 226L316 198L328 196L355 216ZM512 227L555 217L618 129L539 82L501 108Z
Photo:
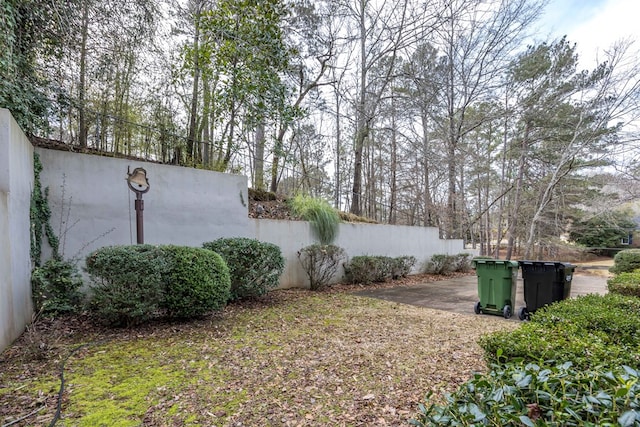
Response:
M33 147L9 110L0 108L0 351L31 320L29 207Z

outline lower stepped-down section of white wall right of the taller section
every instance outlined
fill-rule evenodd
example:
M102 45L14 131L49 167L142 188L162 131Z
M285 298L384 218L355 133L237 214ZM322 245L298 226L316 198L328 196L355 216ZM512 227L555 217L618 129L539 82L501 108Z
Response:
M256 239L276 244L282 250L287 263L280 279L280 287L308 287L309 280L298 260L298 251L317 243L311 226L306 221L278 221L251 219L251 235ZM357 255L385 255L398 257L413 255L418 272L434 254L459 254L465 251L462 240L441 240L438 229L433 227L408 227L379 224L340 224L340 233L334 242L345 250L349 258ZM334 282L342 280L341 268Z

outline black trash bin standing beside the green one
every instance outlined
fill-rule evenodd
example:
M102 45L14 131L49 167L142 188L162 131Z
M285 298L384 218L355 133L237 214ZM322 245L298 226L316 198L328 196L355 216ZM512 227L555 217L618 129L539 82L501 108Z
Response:
M518 318L525 320L540 307L569 298L575 265L567 262L519 261L524 284L524 302Z

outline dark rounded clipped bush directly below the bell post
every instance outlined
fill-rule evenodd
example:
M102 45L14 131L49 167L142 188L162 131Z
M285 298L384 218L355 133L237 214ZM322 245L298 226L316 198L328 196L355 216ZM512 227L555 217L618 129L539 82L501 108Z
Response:
M170 265L156 246L110 246L87 256L86 271L91 311L103 323L130 326L158 314Z

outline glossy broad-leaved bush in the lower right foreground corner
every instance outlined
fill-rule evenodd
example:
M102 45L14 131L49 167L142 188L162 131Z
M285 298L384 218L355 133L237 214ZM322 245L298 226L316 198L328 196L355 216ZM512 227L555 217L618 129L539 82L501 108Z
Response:
M493 366L446 405L419 406L414 426L577 426L640 424L640 374L628 367L582 370L561 365ZM429 398L429 397L427 397Z

